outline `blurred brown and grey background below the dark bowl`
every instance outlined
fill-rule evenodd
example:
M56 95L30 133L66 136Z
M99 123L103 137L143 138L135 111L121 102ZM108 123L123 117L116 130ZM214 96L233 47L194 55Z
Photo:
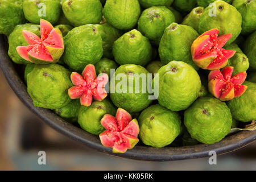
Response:
M229 154L174 162L121 159L81 146L48 127L16 97L0 71L0 170L256 170L256 142ZM46 152L46 165L38 152Z

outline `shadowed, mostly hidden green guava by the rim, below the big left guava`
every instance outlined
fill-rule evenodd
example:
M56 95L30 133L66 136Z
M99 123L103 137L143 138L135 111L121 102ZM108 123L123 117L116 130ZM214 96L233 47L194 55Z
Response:
M77 117L80 109L80 101L78 99L72 100L69 104L55 109L55 113L61 118L65 119L68 122L74 123L77 121Z

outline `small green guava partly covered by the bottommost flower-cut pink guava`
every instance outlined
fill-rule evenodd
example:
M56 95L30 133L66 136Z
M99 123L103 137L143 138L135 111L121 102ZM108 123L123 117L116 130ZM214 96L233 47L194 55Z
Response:
M105 99L94 101L89 107L81 106L78 115L78 123L81 128L93 135L99 135L104 131L101 119L105 114L115 114L113 104Z

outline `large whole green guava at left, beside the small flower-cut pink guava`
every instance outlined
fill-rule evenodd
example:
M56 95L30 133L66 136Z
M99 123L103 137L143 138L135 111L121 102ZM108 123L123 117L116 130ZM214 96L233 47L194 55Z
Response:
M36 65L27 75L27 92L34 106L53 110L67 105L70 74L58 64Z

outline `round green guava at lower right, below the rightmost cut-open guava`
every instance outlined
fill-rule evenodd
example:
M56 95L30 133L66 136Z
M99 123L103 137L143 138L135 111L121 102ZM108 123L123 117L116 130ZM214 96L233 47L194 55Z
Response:
M225 102L200 97L184 113L184 125L191 137L201 143L213 144L231 130L232 115Z

